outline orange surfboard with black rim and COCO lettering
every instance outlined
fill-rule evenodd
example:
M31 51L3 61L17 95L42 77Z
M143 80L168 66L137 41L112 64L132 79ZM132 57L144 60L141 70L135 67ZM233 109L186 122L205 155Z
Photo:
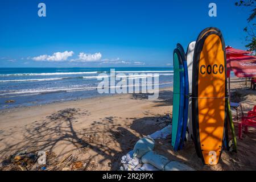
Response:
M204 164L218 163L226 125L225 42L217 28L197 38L193 57L192 124L197 155Z

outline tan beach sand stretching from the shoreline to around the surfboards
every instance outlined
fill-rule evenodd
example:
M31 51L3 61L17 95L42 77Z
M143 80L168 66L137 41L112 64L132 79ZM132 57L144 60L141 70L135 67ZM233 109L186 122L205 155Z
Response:
M246 113L256 105L256 91L243 87L231 84L232 101L241 102ZM58 160L72 152L88 170L117 170L137 140L171 122L171 111L172 88L160 90L155 101L146 94L120 94L1 110L0 162L16 151L44 150ZM233 117L237 133L235 112ZM197 170L256 170L256 130L237 140L238 153L224 151L216 166L204 166L192 142L174 152L168 137L156 140L155 150Z

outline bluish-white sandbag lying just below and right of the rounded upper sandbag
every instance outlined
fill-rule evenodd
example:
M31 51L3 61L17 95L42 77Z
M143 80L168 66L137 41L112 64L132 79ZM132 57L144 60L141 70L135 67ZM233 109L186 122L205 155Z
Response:
M153 151L147 152L147 154L142 156L142 163L151 164L160 170L164 170L164 166L166 166L166 164L169 162L170 160L168 160L165 156L158 155Z

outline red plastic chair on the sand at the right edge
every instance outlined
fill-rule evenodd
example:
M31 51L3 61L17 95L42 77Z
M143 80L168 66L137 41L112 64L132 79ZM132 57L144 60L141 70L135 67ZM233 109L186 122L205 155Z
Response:
M242 139L242 128L245 127L245 133L248 132L248 127L254 127L256 129L256 106L252 111L249 111L247 117L242 117L242 122L238 126L238 137Z

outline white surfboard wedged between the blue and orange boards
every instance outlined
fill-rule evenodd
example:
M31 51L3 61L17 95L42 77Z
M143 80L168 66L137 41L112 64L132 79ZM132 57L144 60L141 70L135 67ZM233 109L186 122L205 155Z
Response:
M188 104L188 137L187 140L192 140L193 129L192 129L192 68L193 68L193 56L196 42L191 42L187 49L187 64L188 64L188 83L189 83L189 104Z

